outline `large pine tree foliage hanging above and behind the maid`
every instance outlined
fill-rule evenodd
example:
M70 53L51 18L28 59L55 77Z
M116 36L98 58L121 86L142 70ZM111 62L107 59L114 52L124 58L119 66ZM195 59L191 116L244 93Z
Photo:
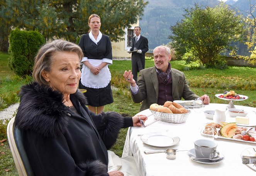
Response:
M88 17L101 18L101 32L112 41L122 40L124 28L141 17L144 0L5 0L13 27L37 30L46 38L75 42L88 33Z

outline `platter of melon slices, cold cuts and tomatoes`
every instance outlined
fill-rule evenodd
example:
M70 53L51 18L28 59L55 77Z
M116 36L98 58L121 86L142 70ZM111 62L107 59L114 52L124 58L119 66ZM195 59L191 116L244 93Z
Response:
M234 140L234 141L242 141L242 142L248 142L248 143L256 143L256 129L255 127L246 127L246 126L238 126L236 123L227 123L227 122L221 122L221 124L218 123L207 123L205 126L210 126L214 128L214 135L215 138L221 138L221 139L228 139L228 140ZM217 134L217 128L220 128ZM248 130L245 134L242 134L242 131ZM209 134L205 134L203 130L201 131L202 135L210 136Z

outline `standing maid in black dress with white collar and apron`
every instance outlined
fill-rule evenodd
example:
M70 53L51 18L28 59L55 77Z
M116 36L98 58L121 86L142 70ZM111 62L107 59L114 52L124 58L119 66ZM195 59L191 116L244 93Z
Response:
M84 54L79 88L87 90L84 95L89 110L100 113L105 105L114 102L108 67L112 64L112 46L109 37L100 32L101 23L98 15L91 15L88 25L90 33L82 35L79 42Z

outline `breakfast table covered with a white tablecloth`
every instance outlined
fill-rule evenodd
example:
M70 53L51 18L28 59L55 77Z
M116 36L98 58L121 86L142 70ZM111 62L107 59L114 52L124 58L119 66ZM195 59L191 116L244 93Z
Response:
M250 124L253 124L252 126L255 129L256 108L235 106L248 112L247 117L249 117ZM156 121L152 111L149 109L141 111L137 115L148 116L148 119L145 121L146 127L133 126L128 128L122 157L134 156L139 170L138 176L255 175L256 166L253 164L242 164L241 153L249 148L256 149L256 142L235 141L227 138L211 139L209 136L201 133L201 129L205 124L213 122L212 119L205 117L203 111L225 109L226 107L227 104L210 103L205 105L201 111L195 111L191 108L188 118L183 123ZM226 117L227 123L236 121L236 118L230 117L227 111ZM161 133L173 137L178 136L180 141L175 145L164 147L159 147L157 141L153 144L146 144L141 138L143 135L150 133ZM190 158L188 152L193 150L194 141L197 139L214 140L217 143L217 151L219 151L221 156L224 156L224 159L219 162L200 163ZM168 148L176 149L176 159L167 159L164 152L144 153L146 150L165 150Z

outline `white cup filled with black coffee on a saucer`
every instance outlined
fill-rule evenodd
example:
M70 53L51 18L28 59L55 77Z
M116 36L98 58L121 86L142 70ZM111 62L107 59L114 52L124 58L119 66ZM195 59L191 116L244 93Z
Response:
M198 139L194 142L195 144L195 156L196 158L217 158L219 152L217 149L217 143L208 139Z

